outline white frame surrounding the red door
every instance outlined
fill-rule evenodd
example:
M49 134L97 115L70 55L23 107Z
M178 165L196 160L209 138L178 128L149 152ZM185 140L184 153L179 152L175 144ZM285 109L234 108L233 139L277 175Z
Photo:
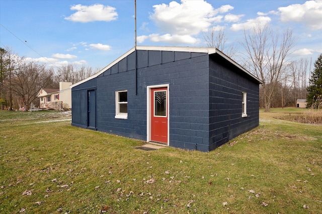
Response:
M169 96L169 84L163 84L163 85L153 85L153 86L146 86L146 141L151 141L151 89L152 88L164 88L167 87L167 107L168 107L168 146L170 142L170 96Z

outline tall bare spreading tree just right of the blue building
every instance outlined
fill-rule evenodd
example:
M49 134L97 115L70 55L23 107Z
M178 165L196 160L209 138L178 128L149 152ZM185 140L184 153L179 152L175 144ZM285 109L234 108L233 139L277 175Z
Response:
M268 26L257 25L251 31L244 31L248 67L262 84L265 111L270 111L278 91L282 74L286 72L286 58L294 46L292 30L282 35L274 33Z

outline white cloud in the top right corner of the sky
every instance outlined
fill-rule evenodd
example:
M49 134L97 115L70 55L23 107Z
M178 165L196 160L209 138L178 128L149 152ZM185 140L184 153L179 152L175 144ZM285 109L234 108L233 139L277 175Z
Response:
M294 4L278 8L282 22L297 22L312 30L322 29L322 1L307 1L303 5Z

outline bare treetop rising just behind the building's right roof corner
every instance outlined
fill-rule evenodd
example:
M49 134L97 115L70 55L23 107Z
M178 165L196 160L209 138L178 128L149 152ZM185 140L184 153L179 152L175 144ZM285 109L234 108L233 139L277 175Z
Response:
M222 27L211 26L210 29L203 32L203 38L208 48L216 48L230 58L233 58L237 52L234 43L227 46L228 37Z

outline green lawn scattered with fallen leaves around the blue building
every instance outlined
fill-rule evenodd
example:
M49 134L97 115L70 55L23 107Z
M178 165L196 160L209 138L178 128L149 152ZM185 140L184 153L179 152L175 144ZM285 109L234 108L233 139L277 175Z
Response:
M66 114L0 111L0 213L320 213L322 128L274 111L208 153L138 150Z

